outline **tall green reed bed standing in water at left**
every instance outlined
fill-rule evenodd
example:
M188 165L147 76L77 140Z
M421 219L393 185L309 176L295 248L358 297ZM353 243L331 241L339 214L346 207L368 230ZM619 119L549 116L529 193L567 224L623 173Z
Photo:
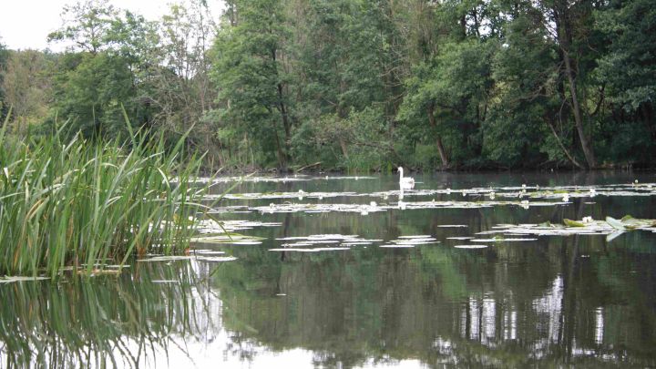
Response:
M99 142L52 135L28 142L0 129L0 275L94 272L130 255L189 246L205 188L184 138L133 133ZM129 126L128 126L129 127ZM172 176L176 182L171 183Z

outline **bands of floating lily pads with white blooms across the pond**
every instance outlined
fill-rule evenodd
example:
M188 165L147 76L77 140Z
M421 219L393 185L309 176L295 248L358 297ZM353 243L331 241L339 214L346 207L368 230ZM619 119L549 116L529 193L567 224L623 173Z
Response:
M315 179L355 179L354 177L328 177L312 178L298 176L294 178L249 178L249 181L287 181L287 180L315 180ZM362 178L364 179L364 178ZM222 179L228 181L232 179ZM233 179L238 180L238 179ZM559 187L490 187L471 188L461 190L390 190L372 193L345 192L261 192L237 193L224 196L229 200L285 200L263 206L249 206L248 204L224 206L215 208L214 213L259 212L262 215L272 213L325 213L350 212L368 215L374 212L389 210L417 210L417 209L481 209L497 206L518 206L525 209L536 206L567 205L570 199L589 198L596 196L653 196L656 195L654 184L618 184L605 186L559 186ZM440 196L448 200L404 200L405 197ZM451 198L448 198L451 196ZM334 198L375 198L369 203L324 203L324 199ZM456 197L453 199L453 197ZM458 199L461 197L462 199ZM210 196L209 199L217 197ZM299 202L294 202L299 200ZM300 202L301 200L306 200ZM230 244L261 244L262 239L244 236L238 231L250 230L257 227L277 227L282 225L276 222L263 222L253 220L225 220L217 222L206 220L200 229L199 237L193 241L205 243ZM466 228L464 224L442 224L438 228ZM502 242L537 241L539 236L568 236L568 235L606 235L611 241L625 231L642 230L656 232L654 220L636 220L625 217L622 220L564 220L563 224L499 224L490 231L478 232L472 236L446 237L448 244L456 249L485 249ZM310 236L285 237L276 239L281 241L279 247L270 251L348 251L354 247L370 245L381 248L413 248L417 245L435 244L440 241L431 235L401 236L396 240L367 240L357 235L318 234ZM196 254L194 258L215 258L217 261L229 261L230 256L210 256Z

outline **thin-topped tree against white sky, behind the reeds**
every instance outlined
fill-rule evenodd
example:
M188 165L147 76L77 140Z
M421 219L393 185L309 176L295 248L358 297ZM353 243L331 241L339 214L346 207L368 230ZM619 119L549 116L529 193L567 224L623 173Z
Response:
M133 125L149 123L148 99L139 96L148 80L157 46L152 25L105 0L65 7L64 26L51 41L72 41L56 66L54 115L71 119L71 132L116 136L125 128L123 109Z

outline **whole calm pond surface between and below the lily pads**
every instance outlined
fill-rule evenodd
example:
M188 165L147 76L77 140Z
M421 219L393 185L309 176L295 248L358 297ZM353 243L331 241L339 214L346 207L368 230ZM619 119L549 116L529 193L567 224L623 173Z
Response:
M417 190L656 182L653 173L438 174ZM242 183L232 193L396 190L395 176ZM220 193L228 184L219 185ZM656 195L656 193L655 193ZM461 193L405 198L463 200ZM397 197L221 200L395 204ZM477 200L477 199L466 199ZM478 199L482 200L482 199ZM243 210L243 209L242 209ZM88 282L0 284L0 366L569 367L656 365L656 233L487 242L504 223L591 216L656 218L656 196L573 198L482 209L230 212L280 222L243 234L259 245L200 244L236 261L135 261ZM459 227L440 227L458 225ZM270 251L287 237L383 240L347 251ZM381 248L401 236L439 243ZM333 245L334 246L334 245Z

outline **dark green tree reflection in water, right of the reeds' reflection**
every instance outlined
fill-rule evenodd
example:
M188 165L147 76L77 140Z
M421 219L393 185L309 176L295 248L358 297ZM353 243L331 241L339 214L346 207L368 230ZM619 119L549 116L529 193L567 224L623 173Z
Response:
M649 366L654 283L631 271L653 277L643 268L656 260L630 251L644 242L635 237L606 251L602 238L553 238L530 252L426 246L284 261L251 250L249 261L223 265L212 285L241 343L302 347L317 365ZM574 254L582 251L601 254ZM531 261L535 252L558 262Z

